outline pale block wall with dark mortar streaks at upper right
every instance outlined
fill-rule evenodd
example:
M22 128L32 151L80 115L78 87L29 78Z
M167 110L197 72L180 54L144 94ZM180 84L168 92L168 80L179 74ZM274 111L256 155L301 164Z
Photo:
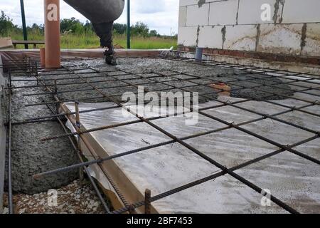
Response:
M180 0L178 44L320 56L319 9L319 0Z

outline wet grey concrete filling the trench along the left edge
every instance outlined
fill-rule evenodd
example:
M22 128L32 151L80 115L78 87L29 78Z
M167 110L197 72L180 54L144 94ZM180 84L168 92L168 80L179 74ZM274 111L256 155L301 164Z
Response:
M26 77L22 77L26 78ZM16 78L15 78L16 79ZM14 86L33 86L36 83L14 82ZM43 93L41 88L16 89L12 95L12 121L21 121L44 115L52 115L45 106L25 107L28 103L48 101L51 95L23 96L26 93ZM12 129L12 185L14 192L34 194L51 188L68 185L78 177L78 171L59 173L41 180L34 180L32 175L53 170L58 167L73 165L78 157L73 152L68 138L41 142L41 138L64 133L58 122L14 125ZM7 177L6 177L7 179ZM6 186L6 185L5 185Z

